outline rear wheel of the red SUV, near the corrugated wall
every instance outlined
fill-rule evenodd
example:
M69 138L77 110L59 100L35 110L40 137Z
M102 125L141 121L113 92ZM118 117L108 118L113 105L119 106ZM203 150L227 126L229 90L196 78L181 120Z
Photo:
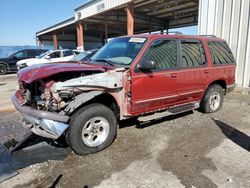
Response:
M200 111L203 113L213 113L217 112L221 109L223 98L224 98L224 90L223 88L218 85L214 84L208 87L205 95L203 96L201 103L200 103ZM210 104L211 98L214 98L217 96L218 102L216 105Z

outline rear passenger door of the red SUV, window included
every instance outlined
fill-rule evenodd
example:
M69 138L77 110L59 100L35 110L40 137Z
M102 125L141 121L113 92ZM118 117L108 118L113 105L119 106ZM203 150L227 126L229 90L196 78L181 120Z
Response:
M179 42L179 100L181 103L199 101L210 72L203 43L193 39L181 39Z

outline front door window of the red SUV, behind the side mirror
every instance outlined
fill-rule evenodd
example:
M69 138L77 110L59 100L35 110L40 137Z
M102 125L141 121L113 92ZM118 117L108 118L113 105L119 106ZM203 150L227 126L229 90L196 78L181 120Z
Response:
M154 61L157 70L170 70L177 67L176 40L154 41L145 53L144 60Z

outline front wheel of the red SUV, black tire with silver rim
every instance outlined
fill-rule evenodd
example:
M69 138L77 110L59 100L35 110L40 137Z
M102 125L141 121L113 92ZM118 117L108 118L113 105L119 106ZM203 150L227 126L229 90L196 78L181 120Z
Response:
M101 151L116 138L115 114L102 104L87 105L72 116L66 134L72 150L79 155Z

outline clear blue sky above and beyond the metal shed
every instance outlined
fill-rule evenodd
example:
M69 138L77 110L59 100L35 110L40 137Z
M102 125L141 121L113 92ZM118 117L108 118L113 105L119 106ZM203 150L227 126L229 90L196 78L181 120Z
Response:
M74 15L88 0L0 0L0 46L36 45L35 34ZM197 27L174 29L196 34Z

